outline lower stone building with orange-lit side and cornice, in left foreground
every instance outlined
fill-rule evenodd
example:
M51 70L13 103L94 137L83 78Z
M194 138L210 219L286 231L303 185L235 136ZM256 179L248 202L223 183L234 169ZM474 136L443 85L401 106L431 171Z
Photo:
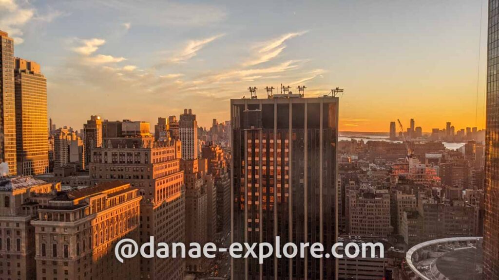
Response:
M139 259L121 264L114 245L138 240L137 188L115 181L62 192L38 210L31 222L36 238L37 280L136 280Z

